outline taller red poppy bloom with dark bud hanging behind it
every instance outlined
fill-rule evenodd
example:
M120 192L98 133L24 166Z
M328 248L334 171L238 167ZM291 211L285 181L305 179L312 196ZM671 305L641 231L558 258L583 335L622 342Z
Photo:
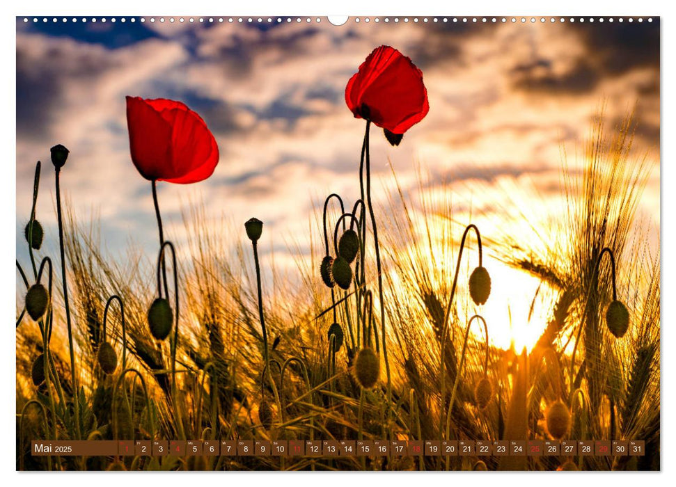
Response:
M390 46L380 46L347 82L345 102L355 118L404 134L430 111L423 72Z

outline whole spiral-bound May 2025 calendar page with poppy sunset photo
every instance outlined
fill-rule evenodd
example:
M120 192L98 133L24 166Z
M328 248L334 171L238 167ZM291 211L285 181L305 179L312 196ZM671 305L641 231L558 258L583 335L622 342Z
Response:
M660 23L16 17L16 470L660 470Z

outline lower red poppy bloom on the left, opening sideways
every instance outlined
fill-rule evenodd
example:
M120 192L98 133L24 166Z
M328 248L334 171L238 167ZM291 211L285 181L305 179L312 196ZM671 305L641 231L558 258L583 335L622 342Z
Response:
M202 181L219 162L207 124L181 102L127 97L127 127L134 166L150 181Z

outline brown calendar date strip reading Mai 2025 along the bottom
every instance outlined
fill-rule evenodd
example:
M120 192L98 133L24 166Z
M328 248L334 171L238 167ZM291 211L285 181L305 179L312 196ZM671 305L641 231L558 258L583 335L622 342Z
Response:
M33 440L33 456L643 456L643 440Z

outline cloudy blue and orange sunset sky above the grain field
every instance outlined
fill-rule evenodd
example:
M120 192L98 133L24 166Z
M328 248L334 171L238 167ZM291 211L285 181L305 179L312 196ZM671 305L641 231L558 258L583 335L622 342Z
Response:
M464 223L471 211L503 232L524 213L535 220L530 223L547 225L562 210L563 150L574 165L603 102L609 128L636 108L637 153L659 162L659 19L412 19L350 19L343 26L325 18L320 24L264 18L260 25L17 19L17 257L24 255L38 159L44 166L37 215L48 248L58 243L49 147L62 143L71 151L62 191L80 220L100 218L102 243L114 258L123 258L129 244L154 258L150 183L129 158L125 95L136 95L181 100L201 114L219 144L210 179L159 184L169 237L184 240L181 208L203 201L207 216L222 216L236 229L260 218L262 252L273 246L276 264L291 266L288 243L298 241L309 254L308 218L324 197L340 193L350 206L358 197L364 122L347 109L345 85L382 44L423 70L430 113L400 147L372 131L377 202L386 202L391 163L414 199L418 168L448 183L454 216ZM657 234L659 166L640 211ZM243 227L236 237L244 237Z

